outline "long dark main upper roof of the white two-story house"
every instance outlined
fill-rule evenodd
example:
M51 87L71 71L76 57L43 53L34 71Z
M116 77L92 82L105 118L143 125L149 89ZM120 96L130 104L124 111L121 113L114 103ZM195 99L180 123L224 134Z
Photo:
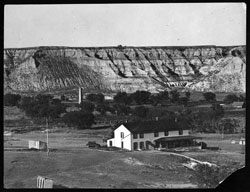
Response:
M132 133L153 133L159 131L183 130L187 128L187 122L175 119L160 119L158 121L128 122L123 125Z

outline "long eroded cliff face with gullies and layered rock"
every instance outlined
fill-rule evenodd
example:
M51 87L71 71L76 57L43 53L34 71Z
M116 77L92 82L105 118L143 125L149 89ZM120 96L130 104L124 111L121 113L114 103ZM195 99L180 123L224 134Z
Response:
M5 49L4 88L245 92L245 67L245 46Z

